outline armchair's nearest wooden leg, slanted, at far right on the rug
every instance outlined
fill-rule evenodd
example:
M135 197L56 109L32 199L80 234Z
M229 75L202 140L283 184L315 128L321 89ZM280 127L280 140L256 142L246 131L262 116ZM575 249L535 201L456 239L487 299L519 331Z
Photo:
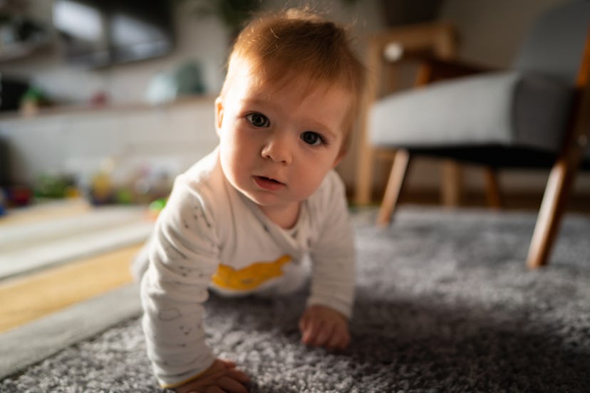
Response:
M529 246L527 266L539 268L547 265L549 253L557 238L561 217L574 182L577 165L559 159L549 174L537 223Z

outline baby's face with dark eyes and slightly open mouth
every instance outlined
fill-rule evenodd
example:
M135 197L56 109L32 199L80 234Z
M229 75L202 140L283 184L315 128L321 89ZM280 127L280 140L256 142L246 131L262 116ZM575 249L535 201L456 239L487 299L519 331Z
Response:
M239 75L216 102L225 176L263 211L294 209L342 158L350 104L337 87L294 79L273 88Z

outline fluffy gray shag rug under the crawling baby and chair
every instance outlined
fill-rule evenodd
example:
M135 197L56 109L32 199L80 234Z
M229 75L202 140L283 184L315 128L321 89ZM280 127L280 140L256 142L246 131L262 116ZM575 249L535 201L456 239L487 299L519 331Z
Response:
M535 216L356 215L353 336L299 343L306 293L207 303L209 343L250 392L590 392L590 217L569 214L551 264L528 271ZM0 382L0 392L160 392L138 317Z

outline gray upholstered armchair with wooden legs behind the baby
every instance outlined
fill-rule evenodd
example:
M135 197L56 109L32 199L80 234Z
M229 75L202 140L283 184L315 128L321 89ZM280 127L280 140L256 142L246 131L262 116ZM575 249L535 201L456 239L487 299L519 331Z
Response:
M495 169L552 168L527 257L531 268L546 264L576 171L590 167L589 28L589 0L550 9L534 22L512 68L483 73L452 56L423 53L408 28L378 36L370 55L378 60L369 63L383 61L396 43L393 57L420 62L422 85L368 105L364 152L395 150L378 221L389 223L416 154L482 164L492 190ZM431 41L452 42L450 26L433 31Z

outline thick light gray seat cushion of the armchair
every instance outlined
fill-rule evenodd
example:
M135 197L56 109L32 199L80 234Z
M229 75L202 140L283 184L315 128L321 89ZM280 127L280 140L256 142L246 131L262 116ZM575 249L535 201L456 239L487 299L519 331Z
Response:
M504 145L557 152L569 115L566 83L487 73L389 95L373 105L371 142L387 147Z

